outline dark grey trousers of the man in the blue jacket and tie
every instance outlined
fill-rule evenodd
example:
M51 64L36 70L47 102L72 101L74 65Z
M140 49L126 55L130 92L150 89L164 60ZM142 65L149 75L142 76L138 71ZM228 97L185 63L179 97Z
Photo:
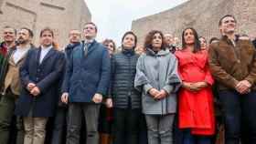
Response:
M86 124L86 143L99 144L98 119L101 105L89 103L70 103L66 144L80 143L82 115Z

